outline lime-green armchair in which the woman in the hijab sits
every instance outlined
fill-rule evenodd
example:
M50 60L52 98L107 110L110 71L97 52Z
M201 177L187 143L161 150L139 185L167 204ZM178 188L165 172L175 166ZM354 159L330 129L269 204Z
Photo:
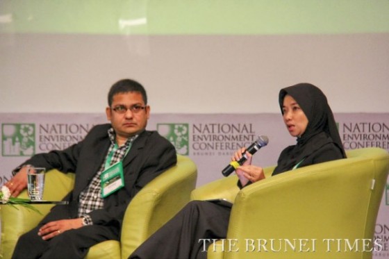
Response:
M386 150L350 150L346 159L269 177L273 169L242 190L234 175L192 191L192 200L234 203L227 239L208 247L208 259L372 258Z

